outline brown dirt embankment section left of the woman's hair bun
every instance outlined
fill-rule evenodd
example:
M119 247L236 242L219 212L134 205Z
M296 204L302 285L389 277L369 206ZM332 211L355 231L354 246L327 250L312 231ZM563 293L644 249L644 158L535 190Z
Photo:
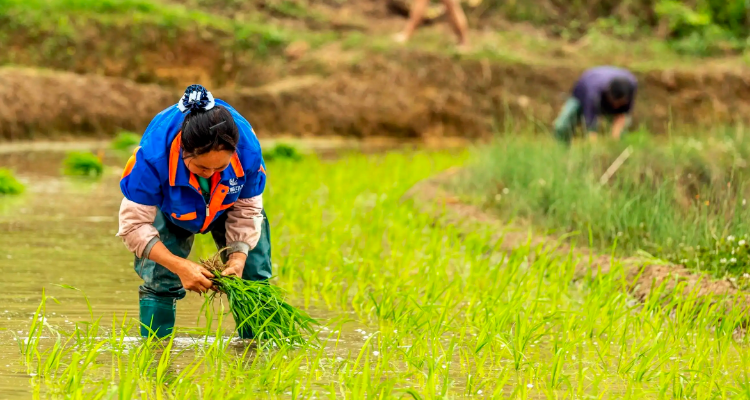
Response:
M6 139L142 130L176 102L156 85L67 72L2 68L0 87L0 138Z

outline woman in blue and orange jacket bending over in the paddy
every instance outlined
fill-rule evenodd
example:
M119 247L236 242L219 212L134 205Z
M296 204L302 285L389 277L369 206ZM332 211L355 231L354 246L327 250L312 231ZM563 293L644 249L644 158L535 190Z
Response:
M224 275L271 278L265 186L253 128L203 86L189 86L177 104L154 117L120 180L117 236L135 254L143 279L141 336L172 333L176 302L186 289L213 289L213 274L187 259L197 233L210 233L219 249L228 248ZM252 338L248 329L238 333Z

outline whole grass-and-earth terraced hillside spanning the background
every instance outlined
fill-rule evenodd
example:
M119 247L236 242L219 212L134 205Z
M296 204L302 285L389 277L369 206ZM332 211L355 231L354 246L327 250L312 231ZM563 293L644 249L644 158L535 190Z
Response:
M500 5L479 7L488 16L510 12ZM736 55L700 60L653 35L623 39L589 25L572 42L528 26L481 24L472 25L472 50L457 55L443 24L420 29L405 46L394 43L404 21L386 8L0 0L0 64L22 67L0 70L0 85L16 88L6 96L11 111L0 116L0 137L139 132L196 82L249 115L262 135L485 136L511 117L551 123L563 93L597 64L636 73L644 99L636 113L655 132L672 122L732 124L750 115L742 97L746 62ZM47 95L34 97L40 91Z

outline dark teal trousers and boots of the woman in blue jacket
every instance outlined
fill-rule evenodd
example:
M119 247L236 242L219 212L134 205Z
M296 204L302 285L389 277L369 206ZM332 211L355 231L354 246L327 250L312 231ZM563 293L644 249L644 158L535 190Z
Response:
M247 255L242 279L261 281L271 277L271 230L265 211L262 214L260 240ZM209 227L217 249L226 247L226 220L225 212ZM161 242L172 254L187 258L193 247L193 233L173 224L161 212L156 214L154 227L159 231ZM221 256L226 262L227 255L222 253ZM139 288L141 336L147 337L150 331L155 332L158 337L169 335L174 328L177 300L184 298L186 294L180 278L152 260L137 257L135 272L143 279L143 285ZM252 332L239 329L239 335L242 338L250 338Z

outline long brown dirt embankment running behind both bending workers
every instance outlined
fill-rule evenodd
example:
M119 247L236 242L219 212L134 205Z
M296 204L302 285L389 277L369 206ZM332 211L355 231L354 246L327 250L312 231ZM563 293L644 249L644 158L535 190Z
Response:
M479 137L509 118L547 126L581 72L407 50L370 54L356 63L329 61L323 72L320 64L307 65L312 70L290 65L285 74L269 67L264 74L277 80L266 85L212 89L266 134ZM670 122L672 127L750 122L750 73L654 71L639 79L637 120L654 132L665 131ZM4 139L140 131L182 90L16 68L0 70L0 87Z

